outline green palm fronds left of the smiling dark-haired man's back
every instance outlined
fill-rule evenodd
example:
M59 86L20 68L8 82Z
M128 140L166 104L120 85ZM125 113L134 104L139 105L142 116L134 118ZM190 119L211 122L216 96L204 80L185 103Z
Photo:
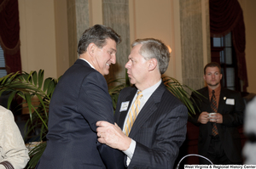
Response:
M0 95L3 92L9 92L8 109L15 96L20 96L27 104L31 122L39 120L39 124L43 124L47 129L49 101L57 82L54 78L44 80L44 70L39 70L38 73L31 71L29 74L18 71L0 78ZM33 99L37 99L38 104L34 104ZM36 114L34 116L37 120L32 119L33 114Z

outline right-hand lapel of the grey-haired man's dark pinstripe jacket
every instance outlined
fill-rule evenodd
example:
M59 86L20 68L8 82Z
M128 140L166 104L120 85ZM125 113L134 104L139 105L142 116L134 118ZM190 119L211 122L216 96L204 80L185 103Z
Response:
M143 109L137 115L137 119L134 122L131 132L129 134L130 138L134 138L138 130L143 126L143 124L148 120L148 118L157 110L157 104L160 103L163 93L165 92L166 87L164 83L160 84L151 97L148 99L147 103L144 104Z

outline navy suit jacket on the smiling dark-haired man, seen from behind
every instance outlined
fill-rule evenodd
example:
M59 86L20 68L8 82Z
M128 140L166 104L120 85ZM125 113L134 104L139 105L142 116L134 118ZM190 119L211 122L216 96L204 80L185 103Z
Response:
M38 168L123 168L123 153L97 142L96 121L113 123L108 85L102 74L78 59L50 100L47 147Z

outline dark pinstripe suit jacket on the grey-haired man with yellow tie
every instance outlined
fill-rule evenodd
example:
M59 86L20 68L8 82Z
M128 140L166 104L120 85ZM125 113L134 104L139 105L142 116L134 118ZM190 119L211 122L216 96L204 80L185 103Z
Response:
M119 94L114 119L121 128L136 93L136 87L126 87ZM126 101L130 101L128 109L120 112ZM186 137L187 118L187 108L161 83L131 128L129 137L137 144L128 168L172 168Z

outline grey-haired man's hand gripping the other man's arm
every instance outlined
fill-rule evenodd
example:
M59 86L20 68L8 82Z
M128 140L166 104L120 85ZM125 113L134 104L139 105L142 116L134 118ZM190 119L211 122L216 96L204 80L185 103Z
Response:
M113 125L107 121L97 121L96 126L98 141L101 144L107 144L113 149L122 151L129 149L131 138L127 137L116 123Z

